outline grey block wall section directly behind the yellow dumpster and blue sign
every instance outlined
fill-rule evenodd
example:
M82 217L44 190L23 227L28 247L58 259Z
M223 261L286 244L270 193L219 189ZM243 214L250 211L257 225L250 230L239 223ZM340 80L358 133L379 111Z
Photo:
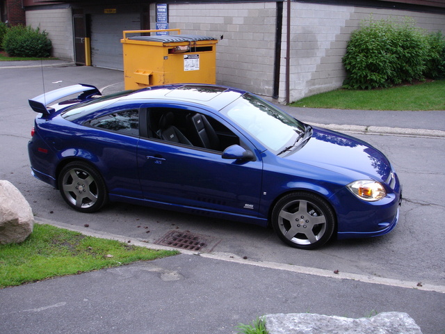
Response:
M150 13L156 13L154 6ZM218 38L218 84L273 95L275 2L171 3L168 13L170 29ZM150 21L155 22L156 17L152 16Z

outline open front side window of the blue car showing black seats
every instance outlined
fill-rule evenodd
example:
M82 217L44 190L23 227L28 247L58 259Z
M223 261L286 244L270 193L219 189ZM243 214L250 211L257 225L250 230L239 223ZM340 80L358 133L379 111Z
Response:
M223 152L238 136L211 116L185 109L149 109L152 136L164 141Z

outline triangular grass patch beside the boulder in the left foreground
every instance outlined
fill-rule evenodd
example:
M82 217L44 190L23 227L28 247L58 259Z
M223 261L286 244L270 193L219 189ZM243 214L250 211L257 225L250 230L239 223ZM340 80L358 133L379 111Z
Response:
M35 224L21 244L0 245L0 289L178 253Z

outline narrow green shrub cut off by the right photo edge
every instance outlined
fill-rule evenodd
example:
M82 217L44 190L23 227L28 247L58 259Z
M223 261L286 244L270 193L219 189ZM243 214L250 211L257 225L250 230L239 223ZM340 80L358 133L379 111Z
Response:
M445 37L442 32L430 33L428 40L428 58L425 77L430 79L445 78Z

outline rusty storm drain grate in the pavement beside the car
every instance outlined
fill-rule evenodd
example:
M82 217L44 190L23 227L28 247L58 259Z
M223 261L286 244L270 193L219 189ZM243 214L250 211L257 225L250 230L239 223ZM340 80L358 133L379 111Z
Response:
M207 235L195 234L191 232L170 231L161 239L156 241L156 244L163 246L170 246L175 248L187 250L202 250L209 244L213 243L213 238Z

